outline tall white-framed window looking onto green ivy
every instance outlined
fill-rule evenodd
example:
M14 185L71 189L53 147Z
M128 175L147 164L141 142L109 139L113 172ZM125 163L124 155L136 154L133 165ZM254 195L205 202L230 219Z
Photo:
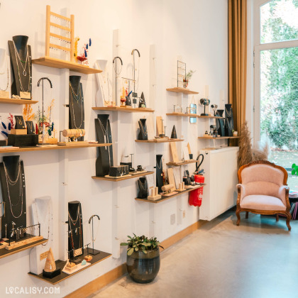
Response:
M255 136L267 137L270 161L288 170L298 191L298 0L257 0L255 7Z

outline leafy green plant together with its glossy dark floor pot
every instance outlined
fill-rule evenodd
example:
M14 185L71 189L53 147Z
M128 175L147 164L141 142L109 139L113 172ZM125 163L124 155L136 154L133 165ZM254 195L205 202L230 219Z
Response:
M152 282L160 270L160 243L156 237L128 236L127 245L127 272L135 282L145 284Z

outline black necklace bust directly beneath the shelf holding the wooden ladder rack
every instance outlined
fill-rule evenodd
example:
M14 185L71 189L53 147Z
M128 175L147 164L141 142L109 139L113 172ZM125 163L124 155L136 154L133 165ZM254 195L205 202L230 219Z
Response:
M69 128L84 129L84 94L82 83L79 81L79 75L70 76L70 111L69 111ZM84 140L84 137L78 138L79 141Z

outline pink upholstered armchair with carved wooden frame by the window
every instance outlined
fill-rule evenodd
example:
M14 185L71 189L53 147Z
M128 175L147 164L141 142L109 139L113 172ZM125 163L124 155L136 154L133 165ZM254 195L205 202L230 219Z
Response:
M278 214L287 217L287 228L291 231L289 221L289 187L287 187L287 171L274 163L259 160L243 165L238 170L237 226L240 213L246 211L255 214Z

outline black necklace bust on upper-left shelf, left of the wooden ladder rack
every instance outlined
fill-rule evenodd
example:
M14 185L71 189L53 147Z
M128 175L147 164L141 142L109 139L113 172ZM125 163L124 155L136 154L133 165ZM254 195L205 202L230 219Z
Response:
M28 36L13 36L13 40L9 40L9 54L13 77L11 94L20 96L21 99L31 100L32 62Z

